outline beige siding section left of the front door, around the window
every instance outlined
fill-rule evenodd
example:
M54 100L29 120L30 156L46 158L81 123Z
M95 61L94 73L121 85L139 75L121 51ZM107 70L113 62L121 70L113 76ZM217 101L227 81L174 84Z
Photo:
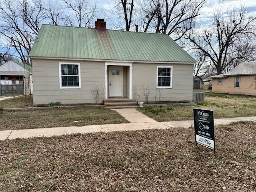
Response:
M81 89L60 89L59 62L77 62L81 66ZM34 104L60 101L63 104L95 103L90 92L100 90L99 102L104 97L104 62L32 59Z

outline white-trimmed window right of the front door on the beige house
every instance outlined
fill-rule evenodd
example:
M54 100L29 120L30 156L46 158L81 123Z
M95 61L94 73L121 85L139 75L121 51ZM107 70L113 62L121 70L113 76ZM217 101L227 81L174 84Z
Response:
M157 66L157 88L172 88L172 66Z

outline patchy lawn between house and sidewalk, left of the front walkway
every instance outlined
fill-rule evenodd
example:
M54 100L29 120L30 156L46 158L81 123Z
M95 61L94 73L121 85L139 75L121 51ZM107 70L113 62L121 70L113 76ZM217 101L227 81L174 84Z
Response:
M128 123L128 121L116 111L106 108L53 108L13 112L4 111L0 114L0 130L116 123Z

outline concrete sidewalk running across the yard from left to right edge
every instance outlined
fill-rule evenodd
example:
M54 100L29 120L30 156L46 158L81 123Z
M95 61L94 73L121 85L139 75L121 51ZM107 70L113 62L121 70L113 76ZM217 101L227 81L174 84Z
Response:
M138 114L139 115L139 114ZM131 118L132 119L132 118ZM256 121L254 117L239 117L227 119L215 119L214 125L229 124L237 121ZM126 124L108 124L108 125L89 125L82 127L55 127L40 129L21 129L21 130L5 130L0 131L0 140L30 138L39 136L58 136L72 133L88 133L88 132L111 132L111 131L130 131L144 129L167 129L172 127L189 128L193 125L193 121L171 121L171 122L131 122Z

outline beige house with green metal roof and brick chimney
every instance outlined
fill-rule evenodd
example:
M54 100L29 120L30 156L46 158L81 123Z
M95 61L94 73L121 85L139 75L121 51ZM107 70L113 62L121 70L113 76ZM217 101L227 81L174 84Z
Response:
M100 103L192 100L195 60L167 34L95 26L42 25L30 52L34 104L96 103L94 93Z

